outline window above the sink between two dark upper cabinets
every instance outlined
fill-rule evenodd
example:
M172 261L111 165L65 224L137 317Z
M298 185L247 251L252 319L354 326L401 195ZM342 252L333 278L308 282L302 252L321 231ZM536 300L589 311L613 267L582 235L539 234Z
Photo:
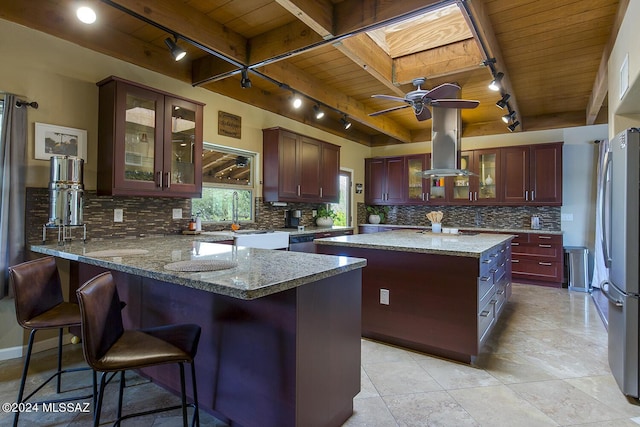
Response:
M191 200L191 212L203 222L254 220L254 163L256 153L205 142L202 148L202 197Z

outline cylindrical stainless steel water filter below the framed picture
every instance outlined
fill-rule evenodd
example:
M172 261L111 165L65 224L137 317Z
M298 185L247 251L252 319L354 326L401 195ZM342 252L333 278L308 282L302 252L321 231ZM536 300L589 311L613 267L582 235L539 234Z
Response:
M48 225L83 225L84 160L51 156Z

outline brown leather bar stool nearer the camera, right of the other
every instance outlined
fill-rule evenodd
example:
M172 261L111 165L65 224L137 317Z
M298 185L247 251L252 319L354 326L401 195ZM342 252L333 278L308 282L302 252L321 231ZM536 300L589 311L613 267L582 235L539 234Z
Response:
M118 414L114 425L122 420L182 408L182 421L187 427L187 406L194 407L192 425L200 425L194 358L200 340L200 326L168 325L149 329L125 330L120 312L120 298L113 276L102 273L87 281L77 291L82 318L84 357L95 371L101 372L95 407L94 426L100 424L100 412L108 374L120 372ZM122 416L124 373L129 369L177 363L180 368L182 405L158 408ZM193 404L187 405L184 363L191 365Z

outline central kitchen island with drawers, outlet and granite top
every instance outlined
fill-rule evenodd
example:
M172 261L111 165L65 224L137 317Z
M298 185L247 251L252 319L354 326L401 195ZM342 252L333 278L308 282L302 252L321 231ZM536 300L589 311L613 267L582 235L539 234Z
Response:
M367 259L362 336L473 363L511 294L512 237L397 230L314 242Z

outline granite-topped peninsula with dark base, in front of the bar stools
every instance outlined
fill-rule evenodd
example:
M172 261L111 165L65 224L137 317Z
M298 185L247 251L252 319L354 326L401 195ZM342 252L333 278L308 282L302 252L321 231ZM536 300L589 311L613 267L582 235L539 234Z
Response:
M360 390L366 261L196 237L74 241L31 250L69 260L78 283L111 271L127 303L127 328L199 324L200 406L229 425L342 425ZM196 264L220 269L166 268ZM143 374L179 390L170 367Z

